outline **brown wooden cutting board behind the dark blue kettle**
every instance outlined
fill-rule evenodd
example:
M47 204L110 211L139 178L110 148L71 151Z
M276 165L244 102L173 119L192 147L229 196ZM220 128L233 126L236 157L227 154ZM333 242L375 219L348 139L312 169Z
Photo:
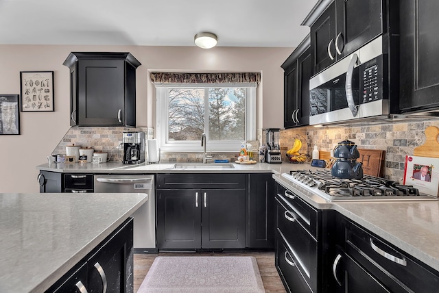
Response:
M385 168L385 151L377 149L358 149L359 158L357 162L363 163L363 173L376 177L383 177ZM331 153L329 151L320 151L319 159L328 162L327 166L331 168ZM335 159L334 159L335 162Z

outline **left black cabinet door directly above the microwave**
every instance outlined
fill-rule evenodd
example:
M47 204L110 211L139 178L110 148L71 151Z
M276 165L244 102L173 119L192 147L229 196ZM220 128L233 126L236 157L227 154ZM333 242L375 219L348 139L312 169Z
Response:
M311 48L313 74L335 62L335 2L311 26Z

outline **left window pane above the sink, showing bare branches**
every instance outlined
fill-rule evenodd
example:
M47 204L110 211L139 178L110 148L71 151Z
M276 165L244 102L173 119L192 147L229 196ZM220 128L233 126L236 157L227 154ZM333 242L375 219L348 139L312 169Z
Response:
M200 140L204 129L204 89L169 88L169 140Z

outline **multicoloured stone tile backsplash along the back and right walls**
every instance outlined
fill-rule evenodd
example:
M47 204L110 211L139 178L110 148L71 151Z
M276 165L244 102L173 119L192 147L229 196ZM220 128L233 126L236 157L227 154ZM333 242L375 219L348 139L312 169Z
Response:
M311 155L314 144L319 151L331 151L345 139L357 144L359 149L379 149L385 151L385 177L394 181L403 181L405 155L412 155L416 146L425 142L425 128L439 127L439 120L427 122L394 123L388 125L370 125L361 127L298 127L283 129L280 135L282 158L287 161L286 152L294 143L294 138L303 142L300 153ZM118 144L124 131L145 131L147 127L71 127L59 142L52 154L64 154L65 146L75 144L93 147L95 151L108 152L110 160L119 160ZM259 129L257 138L265 144L265 131ZM438 150L439 151L439 150ZM120 157L122 153L120 152ZM230 153L213 152L214 160L234 162L239 156L237 151ZM202 153L161 153L161 162L202 162Z

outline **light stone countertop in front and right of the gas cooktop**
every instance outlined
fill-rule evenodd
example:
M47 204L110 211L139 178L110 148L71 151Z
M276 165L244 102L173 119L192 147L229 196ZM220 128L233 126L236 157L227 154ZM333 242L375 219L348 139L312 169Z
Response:
M439 272L439 201L328 202L274 179L318 209L335 209Z

